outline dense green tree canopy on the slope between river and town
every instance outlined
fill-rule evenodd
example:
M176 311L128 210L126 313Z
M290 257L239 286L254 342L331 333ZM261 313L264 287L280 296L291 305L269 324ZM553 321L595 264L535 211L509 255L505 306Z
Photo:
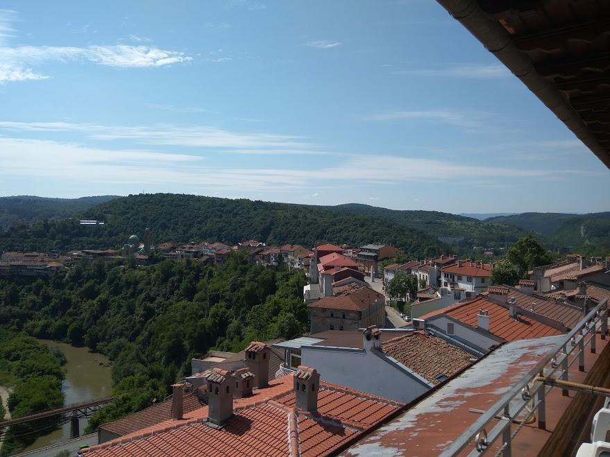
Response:
M303 271L251 266L240 252L221 267L96 263L44 279L0 280L0 290L10 291L1 296L0 322L112 359L115 402L96 414L92 424L99 424L167 395L190 374L190 359L212 347L239 351L251 340L302 334L305 284Z

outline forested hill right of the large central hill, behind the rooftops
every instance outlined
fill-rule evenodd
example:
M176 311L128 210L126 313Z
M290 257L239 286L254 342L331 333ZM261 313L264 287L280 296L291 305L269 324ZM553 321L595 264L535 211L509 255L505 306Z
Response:
M400 211L356 203L329 208L346 214L363 214L378 218L378 220L417 228L434 236L434 238L439 236L463 236L464 239L470 241L470 243L467 243L470 247L473 244L485 247L512 244L521 236L527 234L527 230L511 225L482 222L475 218L437 211Z

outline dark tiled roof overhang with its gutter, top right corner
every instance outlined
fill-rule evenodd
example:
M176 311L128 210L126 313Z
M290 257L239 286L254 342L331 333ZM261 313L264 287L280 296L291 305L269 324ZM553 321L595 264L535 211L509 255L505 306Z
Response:
M610 3L437 1L610 168Z

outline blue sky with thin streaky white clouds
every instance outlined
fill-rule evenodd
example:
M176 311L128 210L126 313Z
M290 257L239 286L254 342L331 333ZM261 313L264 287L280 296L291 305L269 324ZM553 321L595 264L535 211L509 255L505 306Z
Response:
M434 1L2 8L2 196L610 210L610 171Z

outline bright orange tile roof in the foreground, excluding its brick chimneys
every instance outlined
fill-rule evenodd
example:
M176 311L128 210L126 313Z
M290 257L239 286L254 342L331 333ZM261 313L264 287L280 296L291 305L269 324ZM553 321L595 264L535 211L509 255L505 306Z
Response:
M339 448L402 404L321 382L316 413L296 409L292 376L235 399L221 428L205 423L207 406L101 445L86 456L319 456Z

